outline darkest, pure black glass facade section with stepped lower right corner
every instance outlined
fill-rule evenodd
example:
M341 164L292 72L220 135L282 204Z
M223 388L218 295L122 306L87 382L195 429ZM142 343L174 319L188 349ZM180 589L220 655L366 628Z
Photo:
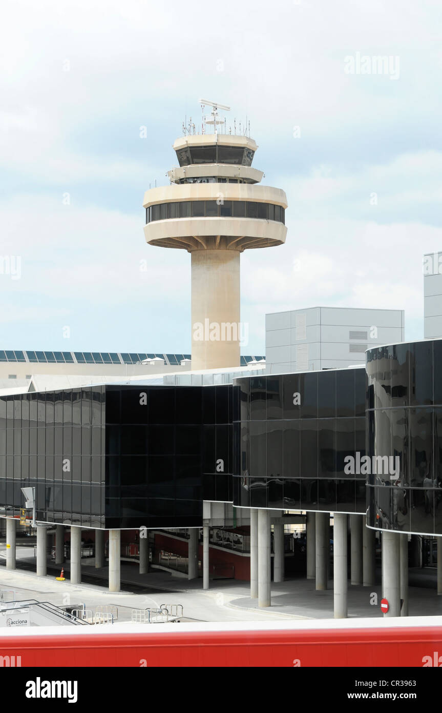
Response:
M107 526L201 526L231 501L232 434L231 386L107 386Z

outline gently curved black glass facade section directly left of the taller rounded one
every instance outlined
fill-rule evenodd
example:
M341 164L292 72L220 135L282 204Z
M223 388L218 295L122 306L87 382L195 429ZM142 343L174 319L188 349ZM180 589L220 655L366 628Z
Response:
M233 504L364 513L364 369L235 379ZM354 468L356 470L356 468Z

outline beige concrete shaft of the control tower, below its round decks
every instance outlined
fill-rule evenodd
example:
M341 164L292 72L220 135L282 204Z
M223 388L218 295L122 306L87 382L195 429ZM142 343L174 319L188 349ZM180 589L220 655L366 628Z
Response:
M240 364L239 260L238 250L191 252L192 369ZM211 324L218 325L218 339L209 338ZM236 339L223 339L221 324L237 324L238 334L230 335Z

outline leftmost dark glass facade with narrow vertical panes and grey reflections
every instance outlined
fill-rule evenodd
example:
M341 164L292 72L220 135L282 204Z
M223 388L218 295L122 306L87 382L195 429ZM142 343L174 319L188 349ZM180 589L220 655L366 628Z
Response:
M105 387L0 396L0 513L36 488L36 519L105 520Z

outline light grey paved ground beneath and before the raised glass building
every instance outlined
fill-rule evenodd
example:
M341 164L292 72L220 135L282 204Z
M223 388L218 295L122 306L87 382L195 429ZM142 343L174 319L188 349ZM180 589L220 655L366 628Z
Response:
M0 545L0 562L5 561L6 550ZM17 559L35 570L35 559L28 548L17 548ZM290 618L328 618L333 616L332 582L324 592L315 591L313 580L296 578L284 583L272 583L272 606L265 610L251 600L248 583L236 580L211 580L209 591L202 590L202 580L174 577L163 570L153 570L140 575L135 563L122 562L121 579L125 591L107 591L107 568L95 569L93 558L83 560L82 575L87 583L71 585L69 581L57 582L57 567L46 578L37 577L35 571L6 570L0 566L0 589L15 590L16 599L35 598L56 605L82 605L95 609L98 605L114 604L119 610L120 622L131 620L132 609L159 607L162 604L182 604L184 617L200 621L251 621ZM65 565L65 573L69 564ZM434 572L410 570L412 583L422 586L409 588L410 615L442 615L442 597L434 588ZM102 577L101 583L98 577ZM379 617L381 586L352 587L348 590L349 617Z

